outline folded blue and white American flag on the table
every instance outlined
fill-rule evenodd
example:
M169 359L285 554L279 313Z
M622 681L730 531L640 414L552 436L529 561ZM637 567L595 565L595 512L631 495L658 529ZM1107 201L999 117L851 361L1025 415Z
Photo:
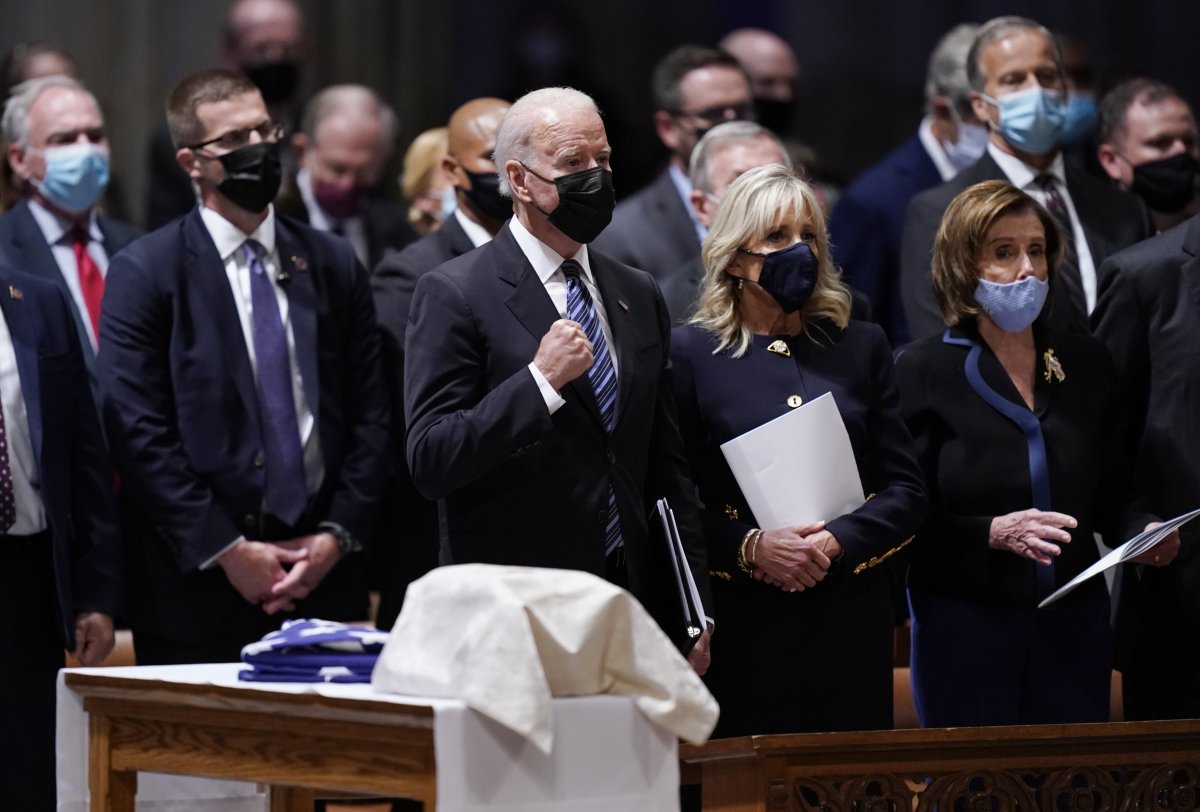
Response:
M284 620L241 650L251 682L370 682L388 632L331 620Z

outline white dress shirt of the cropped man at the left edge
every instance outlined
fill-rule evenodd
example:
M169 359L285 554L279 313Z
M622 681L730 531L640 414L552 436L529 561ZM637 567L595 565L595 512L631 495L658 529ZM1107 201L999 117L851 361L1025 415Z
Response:
M74 260L74 255L71 257ZM18 305L19 306L19 305ZM61 397L61 392L43 392L43 397ZM12 495L17 521L7 533L29 536L46 529L46 506L42 504L41 477L34 459L34 443L29 433L25 397L17 372L17 354L12 349L8 323L0 311L0 407L4 408L5 438L8 469L12 471Z

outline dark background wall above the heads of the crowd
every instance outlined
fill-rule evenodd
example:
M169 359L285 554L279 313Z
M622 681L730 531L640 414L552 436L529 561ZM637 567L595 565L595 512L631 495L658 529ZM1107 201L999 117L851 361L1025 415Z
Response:
M104 107L113 163L137 217L144 140L167 91L218 58L220 0L0 0L0 50L53 38L79 62ZM316 44L311 89L361 82L401 115L401 146L444 124L463 101L512 97L547 83L598 98L614 148L618 190L631 191L661 154L648 78L683 42L714 42L740 25L780 34L802 68L797 134L835 176L852 178L906 138L920 118L925 60L953 25L1031 16L1090 46L1102 82L1145 73L1200 100L1200 2L1194 0L301 0Z

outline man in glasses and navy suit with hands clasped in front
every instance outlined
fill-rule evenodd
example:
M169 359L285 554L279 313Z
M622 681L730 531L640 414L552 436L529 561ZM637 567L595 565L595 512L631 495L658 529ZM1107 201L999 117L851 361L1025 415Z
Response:
M202 205L114 258L97 369L138 661L220 662L280 613L366 618L388 395L349 243L270 205L258 89L199 71L167 119Z

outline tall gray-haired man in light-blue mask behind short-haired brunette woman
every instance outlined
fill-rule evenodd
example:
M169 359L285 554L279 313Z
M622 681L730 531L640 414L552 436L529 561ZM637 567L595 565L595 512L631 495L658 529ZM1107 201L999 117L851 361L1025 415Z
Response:
M930 252L942 213L968 186L1008 180L1032 194L1062 225L1070 252L1056 276L1051 324L1087 332L1096 306L1097 269L1153 230L1150 212L1124 192L1063 166L1058 136L1067 84L1050 31L1024 17L997 17L980 26L967 54L976 115L991 130L974 164L908 204L900 253L900 284L912 338L944 329L930 277Z

